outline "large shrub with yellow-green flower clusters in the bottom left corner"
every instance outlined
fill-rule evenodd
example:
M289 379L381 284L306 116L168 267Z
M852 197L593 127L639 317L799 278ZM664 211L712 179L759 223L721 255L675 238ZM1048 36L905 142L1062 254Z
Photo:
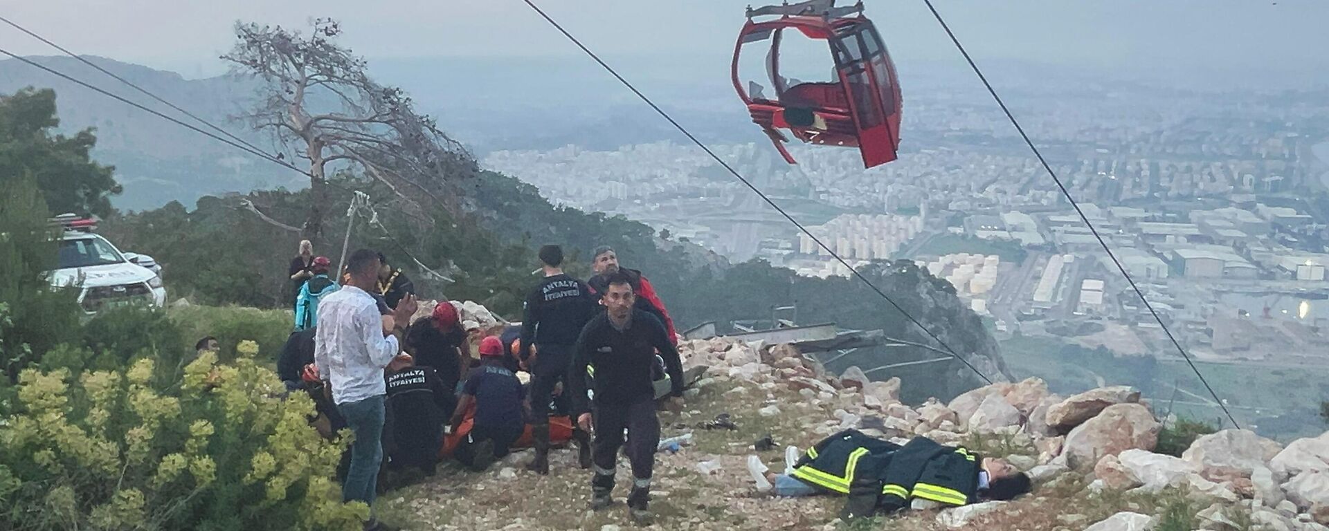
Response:
M205 353L175 385L154 361L20 376L0 425L0 528L359 528L363 503L332 481L343 447L310 427L312 401L282 397L245 342Z

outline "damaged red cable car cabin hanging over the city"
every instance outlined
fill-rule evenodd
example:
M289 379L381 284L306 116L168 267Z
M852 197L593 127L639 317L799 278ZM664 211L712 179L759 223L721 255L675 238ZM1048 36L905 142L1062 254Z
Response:
M766 16L777 19L754 20ZM787 162L796 163L784 149L788 138L780 129L807 143L859 147L864 167L896 159L900 84L877 28L863 16L861 1L841 8L835 7L835 0L748 8L747 17L734 46L734 89ZM828 42L835 60L833 81L801 82L781 76L780 45L793 31ZM756 82L743 86L739 58L744 46L750 52L767 49L764 81L775 88L773 94L763 94L764 88Z

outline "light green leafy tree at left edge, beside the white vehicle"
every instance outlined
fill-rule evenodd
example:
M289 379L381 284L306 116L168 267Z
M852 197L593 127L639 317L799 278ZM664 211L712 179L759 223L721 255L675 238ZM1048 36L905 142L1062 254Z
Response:
M52 288L56 238L47 203L28 177L0 181L0 364L7 380L51 346L77 333L73 289Z

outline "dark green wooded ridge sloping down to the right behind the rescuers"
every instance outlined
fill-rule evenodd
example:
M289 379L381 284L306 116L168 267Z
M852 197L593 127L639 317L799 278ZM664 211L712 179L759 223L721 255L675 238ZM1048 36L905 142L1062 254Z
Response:
M300 219L307 192L262 191L246 198L268 216L290 222ZM346 200L339 198L331 211L344 212ZM730 264L695 244L661 239L638 222L556 208L532 186L494 173L482 173L469 182L466 202L469 219L428 227L380 208L384 226L395 236L384 238L384 232L361 222L352 231L351 247L383 250L393 264L405 268L427 297L476 300L512 320L520 319L521 300L536 281L530 275L537 266L534 247L565 246L569 272L586 277L590 250L609 244L625 267L646 273L680 331L715 321L720 332L728 332L730 321L769 319L772 307L796 303L804 324L882 329L889 337L932 344L856 279L800 277L764 262ZM315 242L316 252L336 256L344 223L344 218L338 218L328 227L328 235ZM173 296L205 304L284 305L286 260L294 254L298 238L294 232L274 231L241 208L238 196L205 196L191 210L171 203L113 219L104 230L122 248L145 252L165 264ZM427 277L399 246L407 246L429 267L447 271L453 281ZM997 342L948 283L912 262L878 263L864 273L985 374L1009 377ZM928 357L936 354L917 348L864 349L847 362L872 368ZM982 384L960 362L876 373L878 378L892 376L932 382L906 392L906 398L914 401L926 396L949 398Z

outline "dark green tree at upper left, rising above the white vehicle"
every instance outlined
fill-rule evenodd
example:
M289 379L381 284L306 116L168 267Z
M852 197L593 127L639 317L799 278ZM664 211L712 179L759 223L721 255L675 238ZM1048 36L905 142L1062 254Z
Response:
M93 129L56 134L56 93L19 90L0 96L0 182L29 175L56 212L110 215L110 195L121 192L114 167L92 161Z

